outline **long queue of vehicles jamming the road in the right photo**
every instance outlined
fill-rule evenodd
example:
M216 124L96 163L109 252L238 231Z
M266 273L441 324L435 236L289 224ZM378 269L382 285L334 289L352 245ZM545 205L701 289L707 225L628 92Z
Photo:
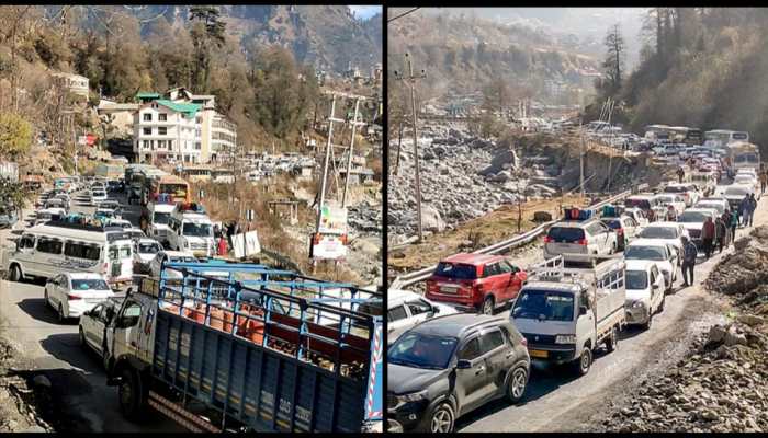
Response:
M665 298L694 285L693 266L752 226L765 191L754 145L678 162L653 191L564 207L537 263L454 254L423 293L389 289L387 430L454 431L497 399L524 401L533 367L578 378L622 331L652 331Z

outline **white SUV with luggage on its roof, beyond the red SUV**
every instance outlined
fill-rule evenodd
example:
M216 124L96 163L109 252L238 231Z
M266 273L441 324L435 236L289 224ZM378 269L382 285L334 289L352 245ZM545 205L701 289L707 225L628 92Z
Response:
M550 227L544 238L544 258L562 255L563 260L580 261L571 254L613 254L619 239L614 230L598 219L561 221Z

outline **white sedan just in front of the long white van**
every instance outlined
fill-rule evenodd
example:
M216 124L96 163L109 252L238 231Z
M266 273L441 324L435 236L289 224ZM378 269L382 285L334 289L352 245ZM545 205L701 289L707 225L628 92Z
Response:
M45 284L45 303L57 312L59 322L79 318L111 297L114 292L101 274L59 274Z

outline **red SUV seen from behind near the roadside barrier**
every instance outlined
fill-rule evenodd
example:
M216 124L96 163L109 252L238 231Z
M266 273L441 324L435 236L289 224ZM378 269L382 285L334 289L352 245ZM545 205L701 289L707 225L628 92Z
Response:
M438 264L427 279L427 299L459 310L493 314L511 303L528 274L500 255L456 254Z

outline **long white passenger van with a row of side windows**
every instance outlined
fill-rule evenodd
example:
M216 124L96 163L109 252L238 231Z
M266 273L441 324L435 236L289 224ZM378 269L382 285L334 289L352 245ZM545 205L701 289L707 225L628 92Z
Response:
M103 274L112 284L129 283L133 247L122 231L53 221L24 230L15 247L3 252L2 266L11 281L84 272Z

